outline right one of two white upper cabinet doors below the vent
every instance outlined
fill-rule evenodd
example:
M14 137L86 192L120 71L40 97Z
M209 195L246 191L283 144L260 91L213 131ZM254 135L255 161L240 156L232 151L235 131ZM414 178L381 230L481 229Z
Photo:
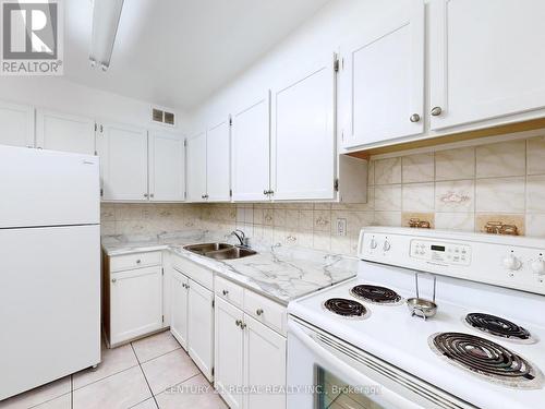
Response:
M183 202L185 194L185 148L183 139L168 133L149 133L149 200Z

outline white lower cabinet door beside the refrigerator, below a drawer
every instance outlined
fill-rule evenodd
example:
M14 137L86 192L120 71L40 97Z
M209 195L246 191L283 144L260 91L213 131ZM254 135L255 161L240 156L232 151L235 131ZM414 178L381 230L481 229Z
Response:
M111 345L160 329L161 267L110 274L110 309Z

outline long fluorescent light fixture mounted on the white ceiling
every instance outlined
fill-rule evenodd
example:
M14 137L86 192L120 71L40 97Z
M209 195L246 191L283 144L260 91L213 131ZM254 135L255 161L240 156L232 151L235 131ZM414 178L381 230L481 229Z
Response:
M89 60L102 71L110 67L123 0L94 0Z

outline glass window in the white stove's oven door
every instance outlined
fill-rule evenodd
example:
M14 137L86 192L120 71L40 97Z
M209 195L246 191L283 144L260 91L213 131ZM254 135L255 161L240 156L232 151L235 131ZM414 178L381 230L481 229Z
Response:
M385 409L375 402L374 396L380 393L373 386L352 386L337 376L315 366L316 373L316 409Z

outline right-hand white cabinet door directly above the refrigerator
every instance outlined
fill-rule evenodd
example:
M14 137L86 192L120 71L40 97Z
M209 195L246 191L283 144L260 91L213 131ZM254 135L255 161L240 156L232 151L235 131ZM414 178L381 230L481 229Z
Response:
M95 155L95 121L37 109L36 147Z

